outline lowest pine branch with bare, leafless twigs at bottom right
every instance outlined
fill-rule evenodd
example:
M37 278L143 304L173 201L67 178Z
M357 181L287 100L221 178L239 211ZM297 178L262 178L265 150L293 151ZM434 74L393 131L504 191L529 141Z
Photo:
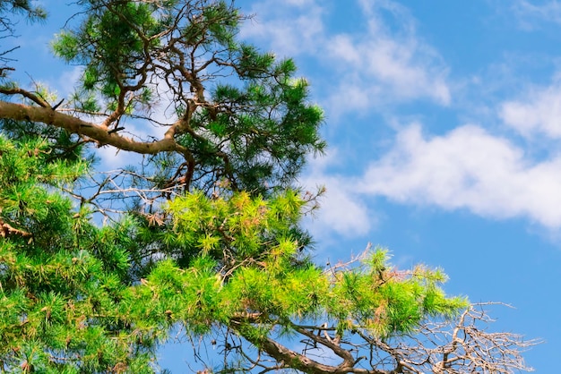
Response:
M492 303L491 303L492 304ZM394 336L384 340L370 335L357 327L353 338L341 338L333 326L297 325L290 321L272 321L263 313L239 313L230 320L229 328L260 353L278 364L267 367L263 361L263 372L293 369L308 374L398 374L426 373L462 374L473 372L514 373L531 371L522 359L522 352L539 340L525 340L512 333L488 332L488 318L483 306L471 305L457 319L427 320L419 325L414 334ZM264 323L287 327L305 336L301 343L306 348L294 351L270 336L255 335L254 327ZM272 327L272 330L276 327ZM338 365L329 365L311 358L312 350L341 358ZM245 356L247 357L247 356ZM321 357L321 355L316 355ZM258 358L252 361L255 364Z

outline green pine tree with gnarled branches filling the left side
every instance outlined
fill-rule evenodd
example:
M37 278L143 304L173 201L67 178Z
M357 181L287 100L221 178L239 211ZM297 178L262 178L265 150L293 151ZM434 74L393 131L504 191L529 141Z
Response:
M315 263L300 221L317 195L296 177L323 112L292 60L237 37L235 4L78 4L52 43L82 66L70 97L22 88L2 55L0 370L160 372L178 328L208 372L527 369L534 342L482 328L442 270L380 248ZM0 32L45 16L0 3ZM100 147L144 158L98 170Z

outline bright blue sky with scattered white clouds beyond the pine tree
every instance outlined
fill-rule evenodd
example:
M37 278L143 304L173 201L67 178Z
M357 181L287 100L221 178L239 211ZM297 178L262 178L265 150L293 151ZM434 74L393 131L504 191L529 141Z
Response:
M73 8L40 3L51 18L20 30L17 73L64 97L80 70L48 42ZM526 358L549 372L561 349L561 2L236 4L255 14L240 37L293 57L325 110L330 147L300 178L327 188L306 221L317 261L372 242L398 268L444 268L448 293L513 305L493 309L490 328L544 339Z

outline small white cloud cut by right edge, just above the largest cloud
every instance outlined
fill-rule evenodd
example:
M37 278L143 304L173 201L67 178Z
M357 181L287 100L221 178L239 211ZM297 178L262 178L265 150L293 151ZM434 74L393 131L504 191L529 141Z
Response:
M530 89L522 98L505 101L499 115L524 136L543 133L554 139L561 138L561 82Z

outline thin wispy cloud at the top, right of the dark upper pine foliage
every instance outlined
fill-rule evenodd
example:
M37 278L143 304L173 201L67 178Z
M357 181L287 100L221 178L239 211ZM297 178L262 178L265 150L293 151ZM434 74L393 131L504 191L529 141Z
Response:
M241 36L280 55L312 57L316 68L329 66L321 72L329 77L321 99L331 118L419 98L450 103L448 69L436 50L419 38L413 17L401 5L362 1L349 6L361 8L357 30L329 32L324 21L332 16L330 2L265 1L250 10L257 16L246 23ZM397 30L385 24L382 12L397 20Z

